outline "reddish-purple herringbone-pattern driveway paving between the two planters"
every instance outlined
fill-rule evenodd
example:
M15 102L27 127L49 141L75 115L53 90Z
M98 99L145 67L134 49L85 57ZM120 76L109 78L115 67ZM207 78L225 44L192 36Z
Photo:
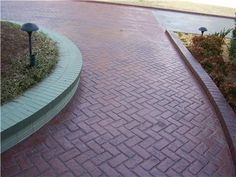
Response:
M2 154L3 177L235 175L212 105L151 11L2 2L2 18L58 31L84 57L71 103Z

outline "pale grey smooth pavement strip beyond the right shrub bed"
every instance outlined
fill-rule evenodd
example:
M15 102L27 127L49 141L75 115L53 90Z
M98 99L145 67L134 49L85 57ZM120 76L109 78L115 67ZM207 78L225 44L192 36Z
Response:
M215 32L220 32L224 28L234 28L234 20L223 17L196 15L165 10L153 10L153 14L162 26L171 31L200 34L198 28L204 26L208 29L206 34L212 34Z

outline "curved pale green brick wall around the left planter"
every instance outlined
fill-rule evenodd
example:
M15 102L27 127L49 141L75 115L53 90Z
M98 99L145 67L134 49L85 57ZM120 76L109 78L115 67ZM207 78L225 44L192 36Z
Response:
M54 71L22 96L1 108L1 152L32 135L57 115L73 97L80 79L82 55L65 36L40 28L59 47Z

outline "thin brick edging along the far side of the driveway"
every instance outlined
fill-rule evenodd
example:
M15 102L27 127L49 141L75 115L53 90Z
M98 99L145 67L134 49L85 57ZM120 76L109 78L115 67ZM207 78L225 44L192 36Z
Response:
M71 0L71 1L77 2L76 0ZM130 6L130 7L137 7L137 8L146 8L146 9L153 9L153 10L163 10L163 11L180 12L180 13L193 14L193 15L204 15L204 16L234 19L234 17L225 16L225 15L207 14L207 13L202 13L202 12L191 12L191 11L176 10L176 9L170 9L170 8L164 8L164 7L163 8L162 7L149 7L149 6L138 5L138 4L125 4L125 3L118 3L118 2L103 2L103 1L96 1L96 0L93 0L93 1L91 1L91 0L81 0L79 2Z

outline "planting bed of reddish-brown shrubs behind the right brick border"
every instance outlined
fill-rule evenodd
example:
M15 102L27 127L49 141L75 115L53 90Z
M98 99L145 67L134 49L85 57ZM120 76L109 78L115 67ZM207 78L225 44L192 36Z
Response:
M177 35L236 112L236 39L225 38L224 33L227 31L204 36L179 32Z

